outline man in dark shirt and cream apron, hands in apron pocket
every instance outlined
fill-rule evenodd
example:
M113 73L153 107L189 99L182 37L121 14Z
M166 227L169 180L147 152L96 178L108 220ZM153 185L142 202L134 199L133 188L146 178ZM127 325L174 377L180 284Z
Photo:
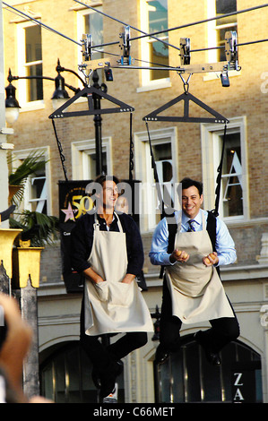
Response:
M151 315L135 277L143 269L143 243L129 215L114 211L116 177L99 176L94 185L96 207L78 219L72 230L72 266L85 277L81 342L93 364L92 377L104 398L122 371L121 358L147 342ZM98 187L97 187L97 190ZM126 332L108 347L103 334Z

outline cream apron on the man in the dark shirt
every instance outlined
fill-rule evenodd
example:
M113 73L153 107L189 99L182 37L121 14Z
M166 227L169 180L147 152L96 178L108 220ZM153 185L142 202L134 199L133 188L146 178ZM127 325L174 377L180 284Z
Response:
M122 283L127 268L125 233L115 212L119 232L100 231L95 214L89 262L104 282L85 281L85 333L100 335L153 331L151 314L135 279Z

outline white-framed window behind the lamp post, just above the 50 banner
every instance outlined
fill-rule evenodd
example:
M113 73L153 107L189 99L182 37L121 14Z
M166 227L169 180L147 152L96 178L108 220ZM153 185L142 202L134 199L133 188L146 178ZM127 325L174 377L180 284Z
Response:
M102 166L106 174L112 173L110 139L102 139ZM73 180L96 178L95 140L72 143Z

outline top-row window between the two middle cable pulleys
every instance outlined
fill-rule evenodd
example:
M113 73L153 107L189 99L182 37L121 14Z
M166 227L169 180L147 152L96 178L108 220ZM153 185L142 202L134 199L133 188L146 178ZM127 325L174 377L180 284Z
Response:
M141 0L142 29L146 33L167 30L168 23L168 0ZM169 43L169 33L163 32L154 39L146 37L142 39L142 64L144 66L158 67L169 66L169 47L162 41ZM151 86L160 82L169 81L169 70L143 70L143 86Z

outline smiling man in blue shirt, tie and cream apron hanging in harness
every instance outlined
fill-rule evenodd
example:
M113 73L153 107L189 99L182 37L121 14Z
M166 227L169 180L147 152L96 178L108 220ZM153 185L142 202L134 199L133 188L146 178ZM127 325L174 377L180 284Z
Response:
M152 264L165 266L156 363L163 363L170 352L179 349L182 323L209 321L212 327L197 331L195 339L209 362L220 365L220 349L238 338L239 325L217 268L235 262L237 253L225 223L201 209L203 185L190 178L181 184L182 211L175 211L172 244L170 220L161 219L149 254Z

